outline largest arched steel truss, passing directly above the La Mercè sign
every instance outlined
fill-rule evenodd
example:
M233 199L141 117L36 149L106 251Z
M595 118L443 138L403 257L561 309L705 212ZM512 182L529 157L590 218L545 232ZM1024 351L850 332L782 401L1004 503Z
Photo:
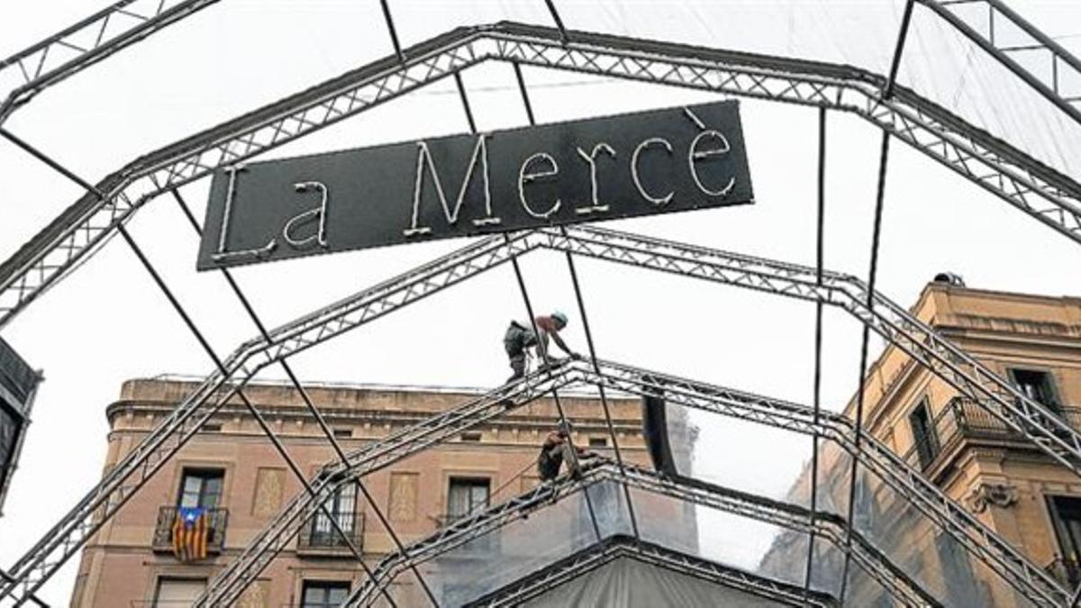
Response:
M151 153L0 265L0 326L148 200L486 60L850 111L1081 242L1081 185L885 79L846 66L513 24L461 28ZM1042 202L1041 202L1042 201Z

